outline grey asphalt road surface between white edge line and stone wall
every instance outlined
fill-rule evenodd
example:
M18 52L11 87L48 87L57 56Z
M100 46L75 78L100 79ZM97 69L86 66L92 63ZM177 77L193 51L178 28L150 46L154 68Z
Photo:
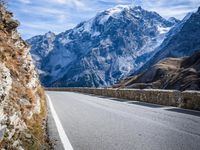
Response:
M74 150L200 150L200 113L72 92L47 92Z

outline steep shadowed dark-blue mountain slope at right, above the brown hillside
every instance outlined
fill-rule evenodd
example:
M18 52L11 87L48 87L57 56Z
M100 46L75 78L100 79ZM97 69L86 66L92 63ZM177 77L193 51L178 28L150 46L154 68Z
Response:
M163 43L156 49L157 53L134 74L144 72L160 60L168 57L191 56L200 51L200 7L197 12L189 13L172 28Z

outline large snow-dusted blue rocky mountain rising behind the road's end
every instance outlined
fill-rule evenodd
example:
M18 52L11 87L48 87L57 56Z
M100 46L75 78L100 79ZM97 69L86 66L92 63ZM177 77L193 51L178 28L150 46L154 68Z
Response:
M45 86L109 86L148 61L177 22L139 6L116 6L28 43Z

